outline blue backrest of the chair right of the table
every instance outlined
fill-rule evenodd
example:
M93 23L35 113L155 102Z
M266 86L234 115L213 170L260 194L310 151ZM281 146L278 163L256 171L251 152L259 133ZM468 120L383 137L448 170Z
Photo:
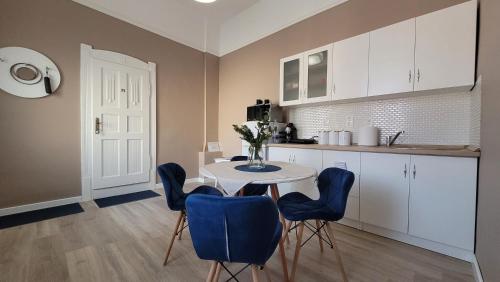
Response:
M318 177L319 200L342 218L353 183L354 173L336 167L326 168Z

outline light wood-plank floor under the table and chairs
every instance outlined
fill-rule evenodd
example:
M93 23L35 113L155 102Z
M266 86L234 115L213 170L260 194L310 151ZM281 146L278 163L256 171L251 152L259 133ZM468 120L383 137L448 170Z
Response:
M189 232L162 265L177 218L164 197L103 209L93 202L82 206L84 213L0 230L0 281L204 281L209 262L198 259ZM350 281L474 281L470 263L338 224L334 232ZM295 236L290 239L289 268ZM272 280L281 281L278 251L268 268ZM227 277L222 273L220 281ZM251 281L250 268L239 277ZM341 281L332 250L321 253L311 239L296 281Z

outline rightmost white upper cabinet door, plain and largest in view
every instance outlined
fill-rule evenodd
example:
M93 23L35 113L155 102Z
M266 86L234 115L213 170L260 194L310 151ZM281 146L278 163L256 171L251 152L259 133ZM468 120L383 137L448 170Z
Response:
M477 2L416 19L415 91L474 85Z

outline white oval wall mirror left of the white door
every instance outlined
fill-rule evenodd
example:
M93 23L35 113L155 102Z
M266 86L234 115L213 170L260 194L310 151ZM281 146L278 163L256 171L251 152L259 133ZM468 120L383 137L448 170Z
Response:
M49 95L44 79L50 82L52 93L61 83L57 66L45 55L22 47L0 48L0 88L23 98Z

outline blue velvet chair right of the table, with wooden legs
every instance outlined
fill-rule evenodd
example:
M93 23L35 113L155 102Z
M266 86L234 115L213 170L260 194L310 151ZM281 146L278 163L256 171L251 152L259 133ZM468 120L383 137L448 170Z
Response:
M304 227L313 232L311 237L318 236L321 251L323 251L323 241L334 249L342 278L344 281L347 281L342 258L340 257L329 222L337 221L344 217L347 196L353 183L354 174L352 172L335 167L327 168L318 177L318 189L320 193L318 200L312 200L299 192L292 192L278 199L278 207L281 214L290 221L290 224L287 224L286 232L290 231L291 222L296 222L294 228L298 229L297 245L295 247L295 256L290 277L292 281L295 278L300 249L303 245L302 235ZM307 220L315 220L316 226L313 226ZM321 235L322 230L326 235L325 237ZM309 241L311 237L305 240L305 242Z

